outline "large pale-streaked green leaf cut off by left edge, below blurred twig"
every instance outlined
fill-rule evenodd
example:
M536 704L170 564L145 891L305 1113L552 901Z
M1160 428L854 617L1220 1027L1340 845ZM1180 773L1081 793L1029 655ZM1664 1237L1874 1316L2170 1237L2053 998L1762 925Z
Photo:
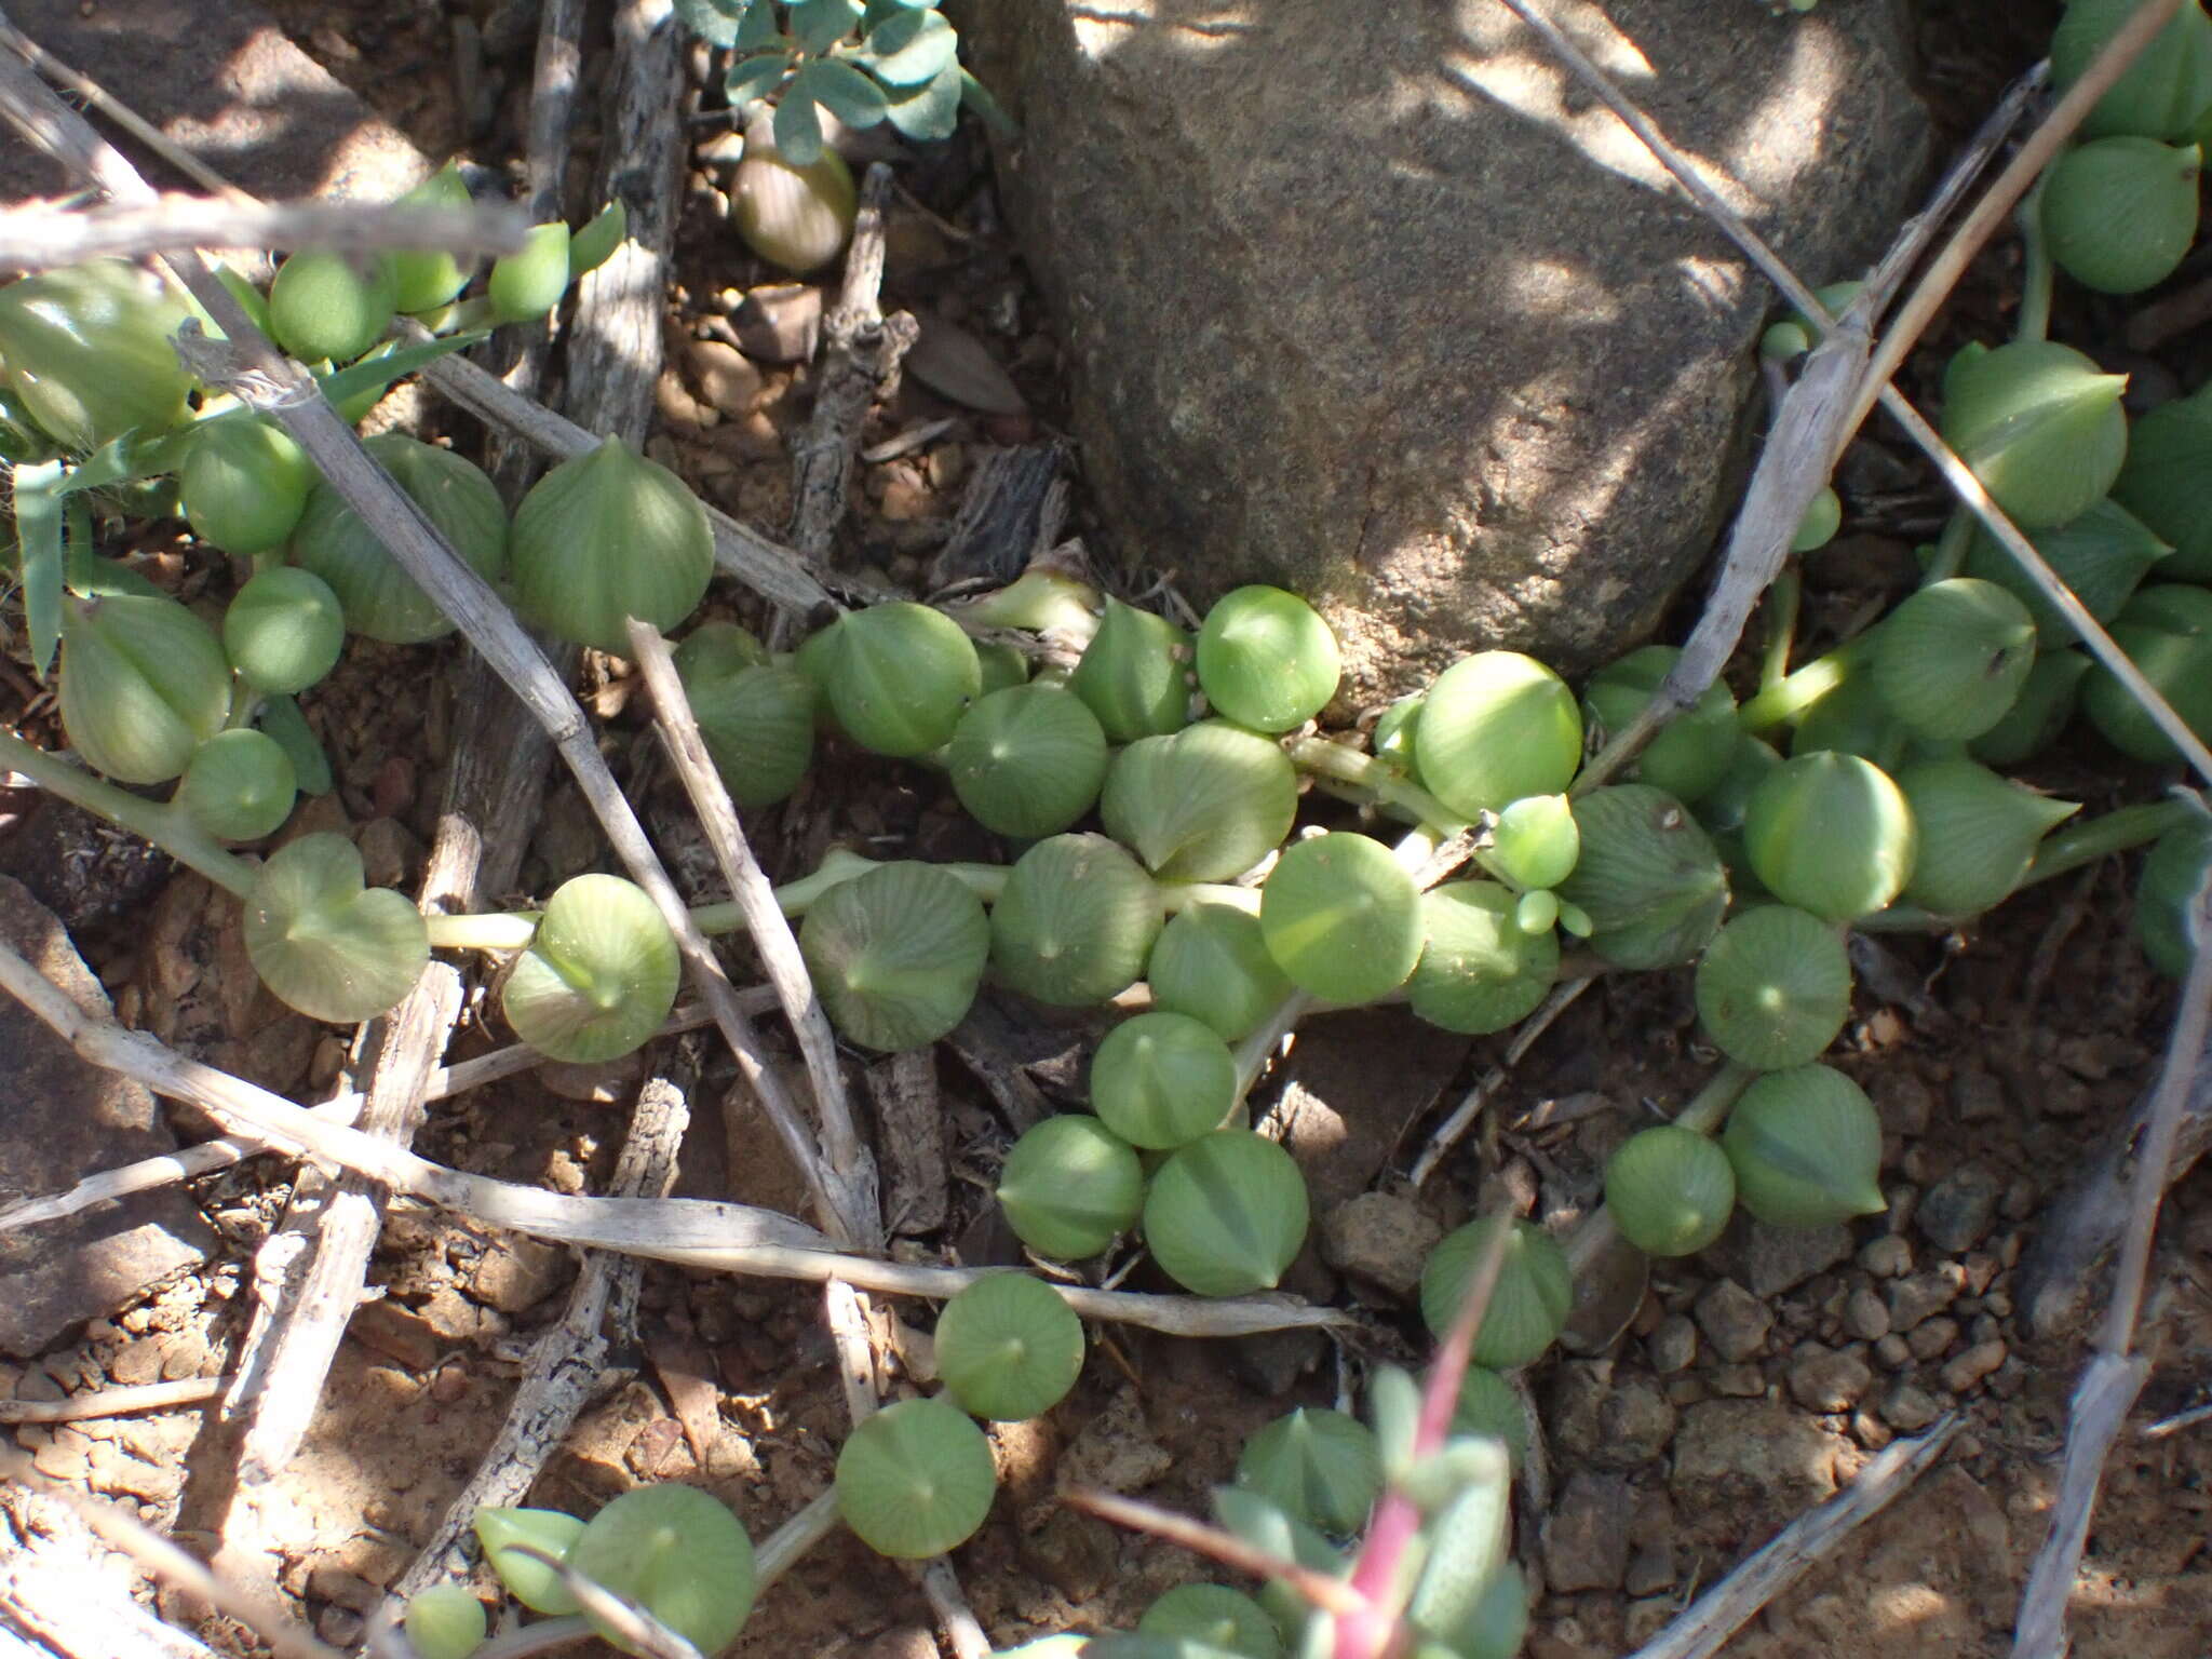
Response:
M91 451L184 420L192 376L173 336L186 305L122 259L93 259L0 288L7 385L44 431Z

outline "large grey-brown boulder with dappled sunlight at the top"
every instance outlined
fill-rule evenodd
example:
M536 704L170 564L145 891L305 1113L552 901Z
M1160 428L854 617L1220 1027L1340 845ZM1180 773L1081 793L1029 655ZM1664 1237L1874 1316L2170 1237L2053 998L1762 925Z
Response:
M1900 0L1553 13L1807 281L1913 204ZM1321 599L1356 699L1657 624L1723 522L1770 292L1498 0L964 24L1115 551Z

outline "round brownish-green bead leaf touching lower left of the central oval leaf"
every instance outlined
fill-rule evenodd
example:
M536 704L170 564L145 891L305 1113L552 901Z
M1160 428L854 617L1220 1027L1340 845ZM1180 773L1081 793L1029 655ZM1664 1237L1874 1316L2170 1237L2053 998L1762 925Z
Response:
M991 962L1037 1002L1086 1009L1137 982L1159 927L1159 889L1135 858L1106 836L1051 836L991 907Z

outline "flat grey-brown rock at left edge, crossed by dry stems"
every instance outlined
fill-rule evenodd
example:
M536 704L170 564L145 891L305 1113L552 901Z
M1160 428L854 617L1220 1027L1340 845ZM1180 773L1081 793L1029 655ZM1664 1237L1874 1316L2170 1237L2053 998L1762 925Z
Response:
M108 1018L108 998L69 933L11 876L0 876L0 938L80 1009ZM146 1088L77 1060L9 995L0 995L0 1201L60 1192L95 1170L177 1148ZM199 1263L212 1243L177 1188L0 1237L0 1349L38 1354L71 1325Z

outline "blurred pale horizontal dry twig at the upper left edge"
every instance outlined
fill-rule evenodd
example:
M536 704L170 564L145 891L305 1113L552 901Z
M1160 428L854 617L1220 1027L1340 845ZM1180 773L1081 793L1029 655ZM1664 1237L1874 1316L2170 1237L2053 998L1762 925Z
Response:
M144 208L0 208L0 270L55 270L84 259L137 259L186 248L445 248L458 254L522 250L522 215L480 208L365 201L232 204L161 197Z

